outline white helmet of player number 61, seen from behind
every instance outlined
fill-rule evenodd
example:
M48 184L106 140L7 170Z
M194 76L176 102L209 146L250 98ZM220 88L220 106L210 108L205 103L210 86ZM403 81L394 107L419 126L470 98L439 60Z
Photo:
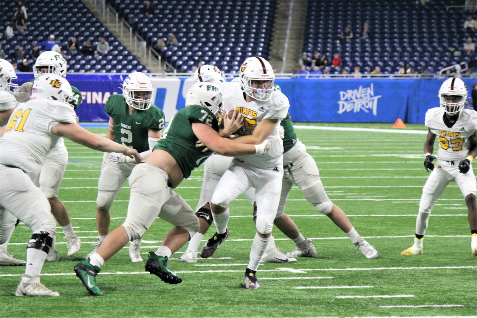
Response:
M31 86L30 99L48 99L69 104L74 100L68 81L56 74L41 74Z

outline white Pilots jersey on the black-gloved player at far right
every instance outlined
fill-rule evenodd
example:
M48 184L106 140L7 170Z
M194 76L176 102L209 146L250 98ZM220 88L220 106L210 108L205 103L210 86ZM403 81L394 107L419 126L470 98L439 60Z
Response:
M425 113L425 127L428 127L439 141L437 159L466 159L469 153L469 137L477 131L477 112L462 109L457 121L450 128L444 123L444 114L444 109L440 107L431 108Z

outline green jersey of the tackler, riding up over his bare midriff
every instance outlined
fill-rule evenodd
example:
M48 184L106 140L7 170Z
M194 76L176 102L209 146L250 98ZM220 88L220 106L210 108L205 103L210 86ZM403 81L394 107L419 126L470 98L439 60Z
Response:
M185 179L212 154L210 149L202 152L203 147L196 147L198 138L192 130L193 121L200 121L218 131L218 120L210 110L203 106L191 105L177 111L154 147L154 150L167 151L176 160Z

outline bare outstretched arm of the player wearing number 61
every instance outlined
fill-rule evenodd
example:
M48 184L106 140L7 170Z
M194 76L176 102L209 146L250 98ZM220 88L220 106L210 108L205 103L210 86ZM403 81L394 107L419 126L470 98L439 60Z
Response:
M70 139L77 144L99 150L103 152L121 152L130 158L135 158L136 162L141 162L141 156L137 150L118 144L113 140L93 134L76 123L59 123L50 128L50 132L56 136Z

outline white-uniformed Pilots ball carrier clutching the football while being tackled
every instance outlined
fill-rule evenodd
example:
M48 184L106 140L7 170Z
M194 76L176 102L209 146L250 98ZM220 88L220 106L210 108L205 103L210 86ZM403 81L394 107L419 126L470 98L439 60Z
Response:
M273 220L280 202L283 178L283 142L280 138L280 120L290 106L288 98L273 91L275 74L268 61L250 57L240 66L240 83L231 83L224 92L224 110L238 110L244 117L244 127L236 142L257 144L269 140L272 149L267 156L236 156L220 178L212 194L211 210L217 232L200 252L202 257L215 253L228 237L228 204L240 194L255 188L257 202L257 232L253 239L249 264L245 270L245 287L258 289L256 272L268 249Z

